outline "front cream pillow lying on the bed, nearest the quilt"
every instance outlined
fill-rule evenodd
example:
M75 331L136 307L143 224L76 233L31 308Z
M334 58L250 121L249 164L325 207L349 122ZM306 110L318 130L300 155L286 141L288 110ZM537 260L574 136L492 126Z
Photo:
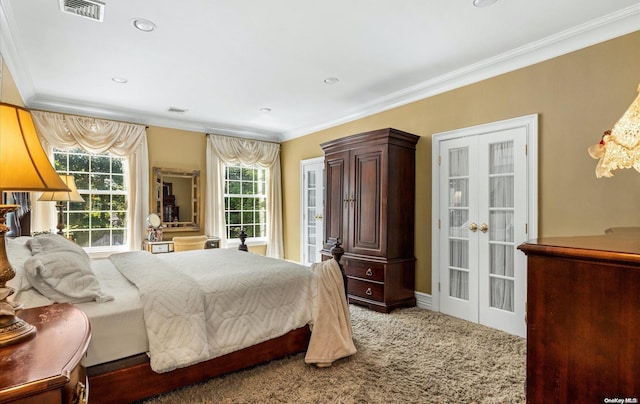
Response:
M102 293L100 283L90 262L75 251L51 250L40 252L25 262L31 285L58 303L98 303L113 300Z

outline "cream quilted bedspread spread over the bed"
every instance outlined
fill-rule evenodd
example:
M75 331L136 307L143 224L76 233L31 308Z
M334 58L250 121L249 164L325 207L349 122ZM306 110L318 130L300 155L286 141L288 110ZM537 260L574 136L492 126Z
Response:
M219 357L312 320L316 277L298 264L228 249L161 255L137 251L114 254L111 260L140 288L156 372ZM178 283L181 291L169 292ZM180 306L187 309L186 319L179 319ZM160 310L148 313L152 307ZM152 342L152 335L171 341ZM181 350L185 343L188 348Z

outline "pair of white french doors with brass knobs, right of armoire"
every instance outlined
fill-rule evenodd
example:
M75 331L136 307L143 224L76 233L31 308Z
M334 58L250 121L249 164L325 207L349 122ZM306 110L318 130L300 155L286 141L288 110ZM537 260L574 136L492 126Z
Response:
M438 142L439 305L525 336L527 128Z

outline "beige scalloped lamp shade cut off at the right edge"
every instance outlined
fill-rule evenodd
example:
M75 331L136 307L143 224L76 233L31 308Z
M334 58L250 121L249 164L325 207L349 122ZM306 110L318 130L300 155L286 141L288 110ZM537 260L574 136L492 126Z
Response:
M640 84L638 96L627 111L606 131L600 143L589 148L589 154L599 159L596 176L612 177L611 171L635 168L640 172Z

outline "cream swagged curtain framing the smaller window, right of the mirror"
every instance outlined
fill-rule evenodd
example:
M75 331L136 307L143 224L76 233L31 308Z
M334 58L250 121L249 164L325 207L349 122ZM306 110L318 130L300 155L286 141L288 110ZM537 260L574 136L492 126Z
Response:
M207 135L205 232L227 247L224 220L225 164L259 165L267 170L267 256L283 258L280 145L252 139Z

